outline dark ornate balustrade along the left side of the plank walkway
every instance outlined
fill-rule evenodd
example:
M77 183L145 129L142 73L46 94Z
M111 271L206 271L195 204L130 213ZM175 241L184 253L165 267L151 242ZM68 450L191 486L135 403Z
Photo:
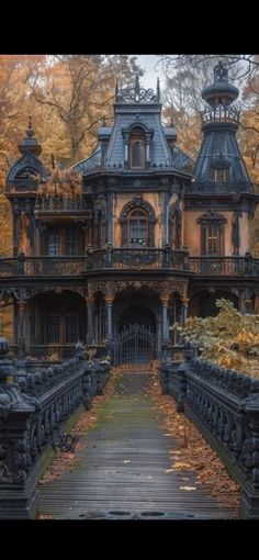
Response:
M7 363L14 383L5 379ZM10 365L9 365L10 363ZM110 363L86 361L82 354L32 371L29 362L0 358L0 518L34 517L44 451L57 441L65 421L82 403L102 394ZM46 466L46 464L45 464Z

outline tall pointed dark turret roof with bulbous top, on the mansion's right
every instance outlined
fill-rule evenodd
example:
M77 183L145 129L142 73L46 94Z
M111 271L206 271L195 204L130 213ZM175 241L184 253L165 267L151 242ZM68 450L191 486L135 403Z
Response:
M219 61L214 68L214 82L202 91L207 107L201 114L203 142L193 171L196 184L206 182L207 192L212 189L215 192L218 189L228 192L250 190L236 139L239 107L233 102L238 93L238 89L228 82L227 69ZM195 182L192 190L195 190Z

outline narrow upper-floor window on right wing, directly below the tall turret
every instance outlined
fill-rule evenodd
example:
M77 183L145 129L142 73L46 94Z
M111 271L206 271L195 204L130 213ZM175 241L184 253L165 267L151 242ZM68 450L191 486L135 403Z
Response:
M201 254L223 257L225 216L211 211L203 214L198 222L201 224Z

